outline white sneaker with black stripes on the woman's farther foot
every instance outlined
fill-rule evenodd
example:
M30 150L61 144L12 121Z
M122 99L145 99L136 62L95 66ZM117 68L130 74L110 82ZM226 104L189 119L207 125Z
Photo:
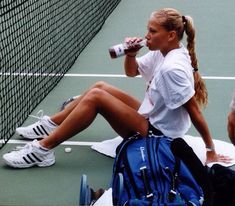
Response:
M39 111L39 113L40 112L42 113L41 110ZM43 115L42 117L33 116L33 115L30 116L39 119L39 121L27 127L16 128L16 133L23 138L31 140L45 138L58 127L58 125L53 123L50 120L50 117L48 116L43 116Z

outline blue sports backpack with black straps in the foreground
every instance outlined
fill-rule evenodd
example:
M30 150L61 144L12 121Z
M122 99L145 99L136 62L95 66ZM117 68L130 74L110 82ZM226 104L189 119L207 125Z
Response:
M117 148L113 167L114 205L180 206L203 203L203 192L164 136L135 135Z

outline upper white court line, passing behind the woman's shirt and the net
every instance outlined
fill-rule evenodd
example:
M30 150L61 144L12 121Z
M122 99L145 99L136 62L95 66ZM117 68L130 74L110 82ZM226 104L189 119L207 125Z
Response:
M62 73L0 73L0 76L62 76ZM64 74L64 77L103 77L103 78L127 78L125 74ZM141 76L137 76L140 78ZM202 76L207 80L235 80L235 77L228 76Z

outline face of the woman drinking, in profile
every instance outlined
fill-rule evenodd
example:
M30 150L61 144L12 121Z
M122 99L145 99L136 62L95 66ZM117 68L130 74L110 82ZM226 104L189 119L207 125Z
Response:
M148 22L145 38L149 50L166 50L169 47L170 32L157 24L156 19L151 18Z

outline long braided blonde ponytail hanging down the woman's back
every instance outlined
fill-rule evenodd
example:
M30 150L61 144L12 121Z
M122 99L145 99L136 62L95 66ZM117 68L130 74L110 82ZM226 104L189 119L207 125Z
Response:
M190 16L182 17L185 33L187 35L187 49L191 58L191 65L194 68L194 89L195 98L200 107L206 107L208 103L208 93L206 85L198 72L198 62L195 52L195 29L193 19Z

